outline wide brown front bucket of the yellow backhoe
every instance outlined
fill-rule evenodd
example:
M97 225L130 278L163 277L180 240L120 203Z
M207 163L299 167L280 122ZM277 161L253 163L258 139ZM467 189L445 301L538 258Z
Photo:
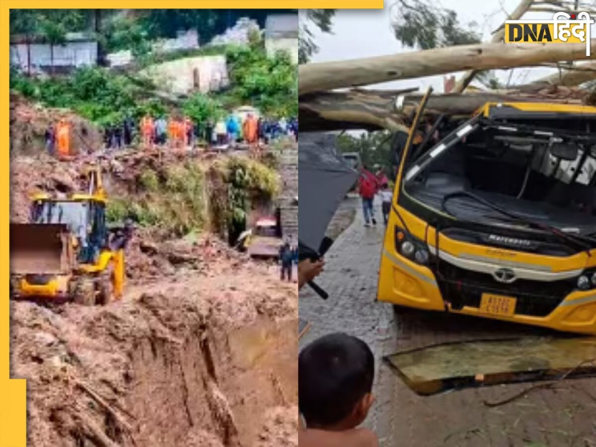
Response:
M11 274L67 274L73 262L66 225L10 224Z

